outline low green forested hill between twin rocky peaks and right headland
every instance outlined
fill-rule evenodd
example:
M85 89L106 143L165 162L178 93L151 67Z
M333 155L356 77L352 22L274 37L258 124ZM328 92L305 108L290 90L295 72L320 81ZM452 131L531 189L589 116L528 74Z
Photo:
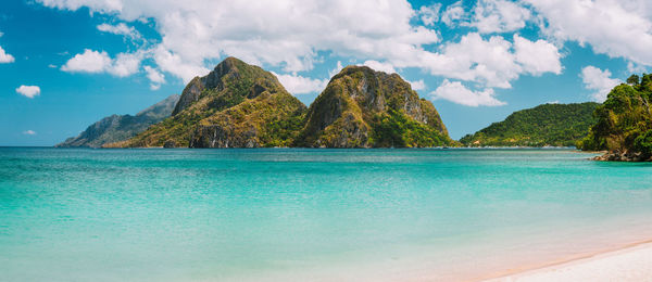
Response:
M598 103L542 104L514 112L460 139L467 146L574 146L589 132Z

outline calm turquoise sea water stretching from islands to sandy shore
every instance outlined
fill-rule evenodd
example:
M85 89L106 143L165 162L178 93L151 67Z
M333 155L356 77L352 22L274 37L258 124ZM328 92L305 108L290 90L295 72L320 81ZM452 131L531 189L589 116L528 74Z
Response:
M457 280L652 238L652 165L590 156L4 148L0 280Z

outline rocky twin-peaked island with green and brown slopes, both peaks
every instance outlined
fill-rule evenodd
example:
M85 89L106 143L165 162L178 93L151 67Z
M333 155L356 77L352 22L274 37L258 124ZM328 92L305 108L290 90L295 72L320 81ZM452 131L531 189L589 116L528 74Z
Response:
M423 148L456 144L397 74L348 66L310 108L274 74L227 57L184 89L171 117L109 148Z

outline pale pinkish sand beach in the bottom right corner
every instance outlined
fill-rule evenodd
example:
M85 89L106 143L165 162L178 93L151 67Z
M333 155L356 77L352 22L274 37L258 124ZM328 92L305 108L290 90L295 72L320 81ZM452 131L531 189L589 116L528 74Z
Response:
M652 281L652 241L486 281Z

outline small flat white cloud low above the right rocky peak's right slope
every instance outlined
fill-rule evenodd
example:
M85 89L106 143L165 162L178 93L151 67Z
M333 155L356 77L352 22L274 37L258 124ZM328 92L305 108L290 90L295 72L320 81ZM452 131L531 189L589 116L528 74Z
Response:
M449 81L444 79L441 86L430 92L434 100L443 99L466 106L499 106L505 103L494 98L493 89L485 91L472 91L464 87L460 81Z

